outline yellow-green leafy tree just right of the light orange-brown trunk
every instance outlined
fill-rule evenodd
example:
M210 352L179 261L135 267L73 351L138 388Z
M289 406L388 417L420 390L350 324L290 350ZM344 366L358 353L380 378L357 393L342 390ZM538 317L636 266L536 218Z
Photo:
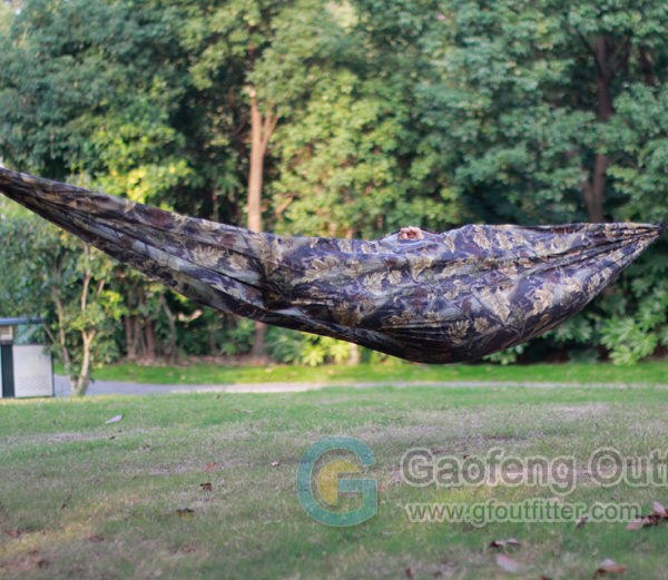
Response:
M440 184L423 171L415 106L415 85L431 67L419 38L436 6L328 6L327 57L305 67L314 78L308 97L277 134L282 230L373 237L406 224L452 224Z

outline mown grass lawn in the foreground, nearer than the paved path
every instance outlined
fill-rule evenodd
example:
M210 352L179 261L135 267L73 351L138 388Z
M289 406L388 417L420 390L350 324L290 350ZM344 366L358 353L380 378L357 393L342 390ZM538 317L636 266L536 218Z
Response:
M667 412L666 390L590 386L1 401L0 577L571 580L592 578L610 558L627 567L621 578L665 579L668 524L418 523L405 507L543 499L589 509L630 502L649 512L655 500L668 504L665 486L603 488L587 461L606 445L623 458L665 450ZM105 424L118 414L121 421ZM376 461L363 476L377 481L377 514L350 528L314 521L297 500L302 454L333 435L357 438ZM399 466L415 446L462 461L487 461L492 448L522 461L573 456L562 480L572 489L489 479L411 486ZM360 464L350 453L325 459L336 458ZM520 545L490 547L509 538Z

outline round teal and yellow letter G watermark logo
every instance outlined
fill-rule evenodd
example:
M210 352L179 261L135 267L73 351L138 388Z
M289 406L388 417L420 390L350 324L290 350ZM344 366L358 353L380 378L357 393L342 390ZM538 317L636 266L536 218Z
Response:
M311 445L299 461L297 495L306 513L314 520L327 525L355 525L376 514L377 481L342 476L360 473L360 468L352 461L341 459L318 461L323 456L326 460L326 455L334 451L354 453L364 468L375 464L373 452L358 439L343 436L322 439ZM344 502L341 502L342 494L361 497L362 505L347 510L347 507L343 505ZM317 501L316 495L321 502Z

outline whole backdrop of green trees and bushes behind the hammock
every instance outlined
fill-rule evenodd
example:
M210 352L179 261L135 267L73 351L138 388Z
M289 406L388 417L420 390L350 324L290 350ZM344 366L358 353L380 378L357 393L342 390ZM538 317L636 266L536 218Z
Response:
M289 235L660 222L667 32L658 0L4 0L0 156ZM75 387L118 357L376 356L200 309L9 201L0 214L0 314L46 317ZM493 360L662 356L667 254L660 240L584 313Z

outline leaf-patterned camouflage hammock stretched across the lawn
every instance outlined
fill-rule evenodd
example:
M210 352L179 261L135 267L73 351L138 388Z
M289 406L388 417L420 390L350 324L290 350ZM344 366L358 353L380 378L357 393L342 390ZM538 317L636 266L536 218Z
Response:
M664 229L469 225L412 240L284 237L2 168L0 191L198 303L424 363L479 358L553 328Z

